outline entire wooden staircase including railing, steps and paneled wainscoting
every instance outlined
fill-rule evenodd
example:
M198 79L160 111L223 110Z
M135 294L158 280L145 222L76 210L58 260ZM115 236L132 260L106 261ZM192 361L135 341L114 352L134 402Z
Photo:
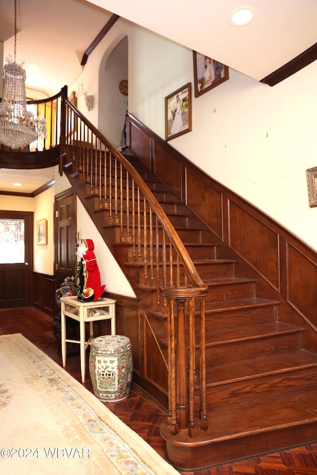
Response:
M67 96L45 107L46 159L0 162L58 160L127 276L137 303L117 323L134 380L167 408L166 459L193 471L316 441L316 250L131 114L125 158Z

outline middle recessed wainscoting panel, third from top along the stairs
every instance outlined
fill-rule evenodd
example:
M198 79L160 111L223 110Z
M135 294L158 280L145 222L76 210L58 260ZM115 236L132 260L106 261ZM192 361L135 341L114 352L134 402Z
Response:
M221 193L212 189L188 168L186 169L186 193L187 206L222 240Z

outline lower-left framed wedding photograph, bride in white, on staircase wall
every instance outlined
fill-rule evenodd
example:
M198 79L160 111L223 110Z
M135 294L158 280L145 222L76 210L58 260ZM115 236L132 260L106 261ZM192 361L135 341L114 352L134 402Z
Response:
M165 140L192 130L191 83L165 97Z

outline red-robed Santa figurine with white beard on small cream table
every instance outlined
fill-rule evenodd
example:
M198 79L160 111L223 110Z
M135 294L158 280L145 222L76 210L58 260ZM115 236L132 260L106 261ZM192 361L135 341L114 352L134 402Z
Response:
M104 293L106 285L101 285L100 272L94 253L92 239L82 239L77 249L76 293L79 300L90 302L98 300Z

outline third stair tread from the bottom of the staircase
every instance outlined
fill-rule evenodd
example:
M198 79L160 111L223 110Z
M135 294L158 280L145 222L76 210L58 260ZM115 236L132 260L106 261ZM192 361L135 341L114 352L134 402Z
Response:
M304 329L295 325L283 322L268 322L262 324L249 325L247 327L213 330L206 335L206 344L227 344L228 342L241 341L243 339L261 338L268 335L281 333L302 332ZM233 336L234 333L234 336Z

